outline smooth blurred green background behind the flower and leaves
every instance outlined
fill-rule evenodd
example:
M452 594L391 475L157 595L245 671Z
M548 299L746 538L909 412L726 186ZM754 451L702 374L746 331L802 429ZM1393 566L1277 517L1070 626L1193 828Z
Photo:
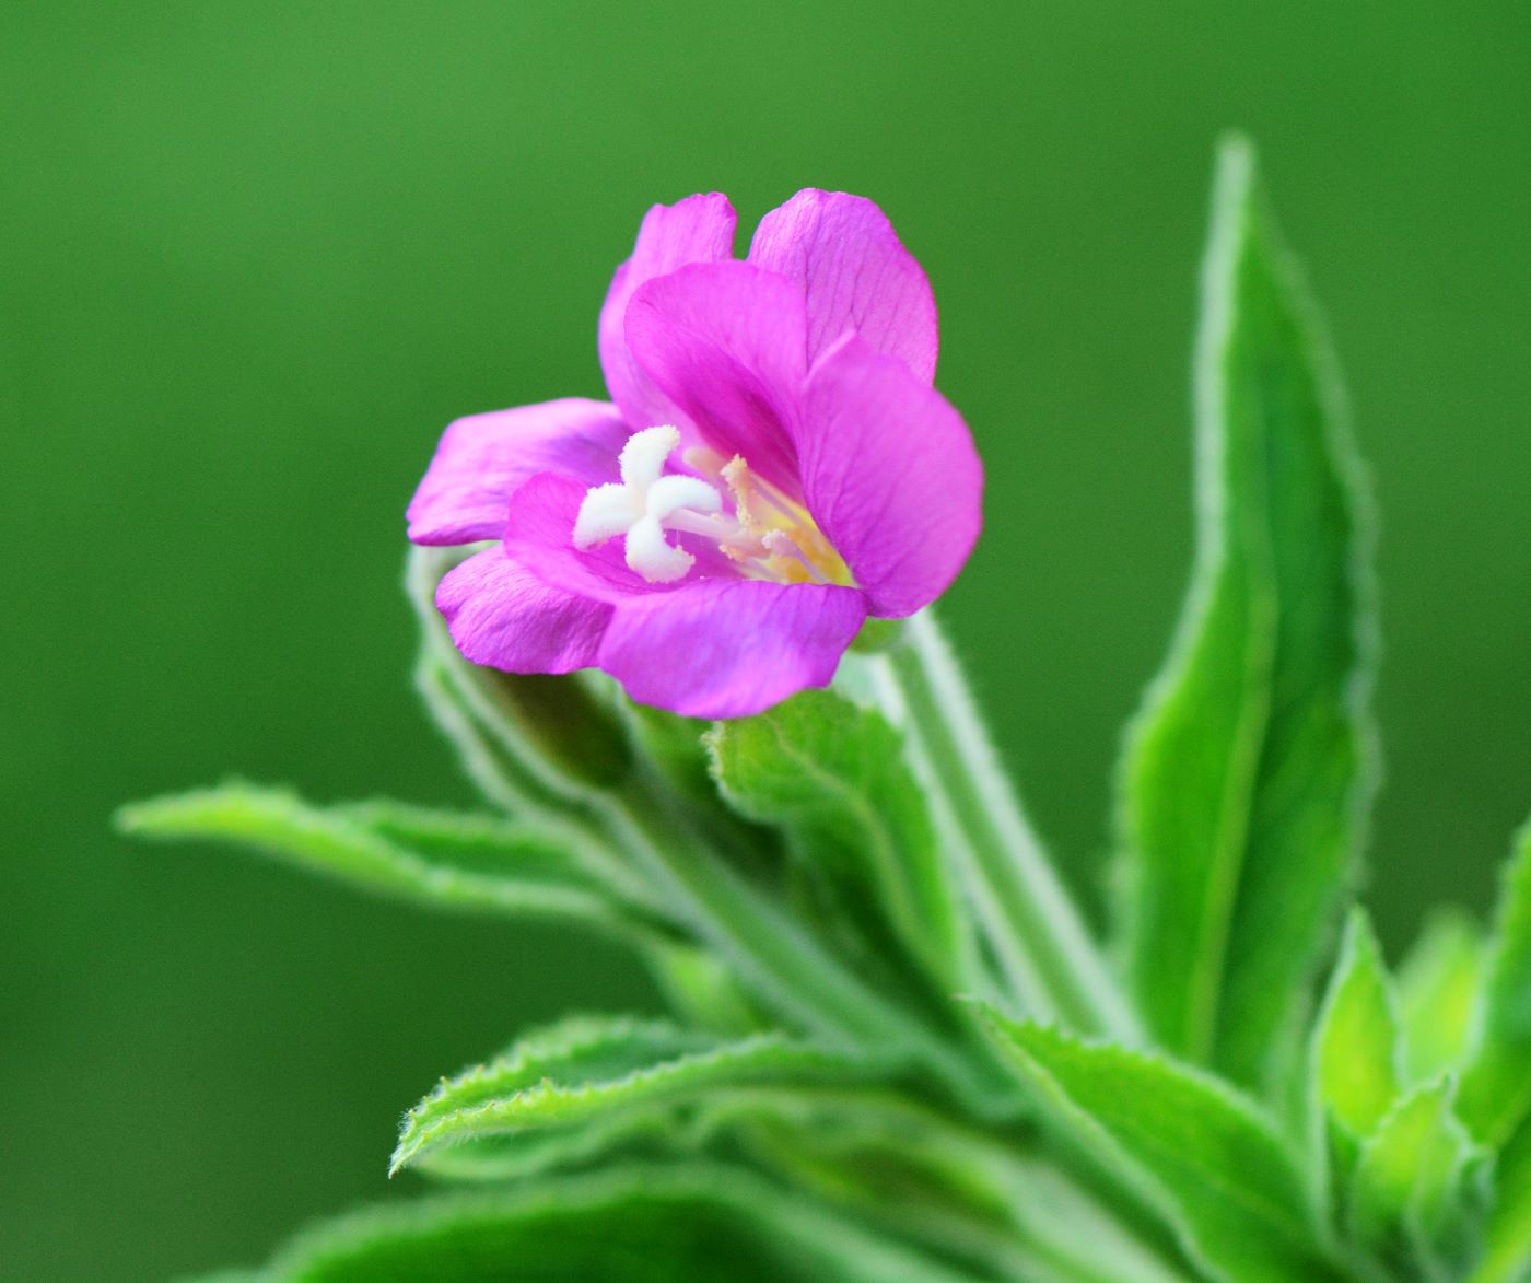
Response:
M401 511L459 413L600 393L643 210L874 196L989 465L948 617L1095 896L1190 559L1216 133L1263 149L1384 511L1370 899L1484 905L1531 807L1531 21L1516 5L149 3L0 17L0 1277L253 1260L620 955L145 850L228 770L467 801ZM403 1182L401 1182L403 1183ZM395 1196L398 1191L393 1191Z

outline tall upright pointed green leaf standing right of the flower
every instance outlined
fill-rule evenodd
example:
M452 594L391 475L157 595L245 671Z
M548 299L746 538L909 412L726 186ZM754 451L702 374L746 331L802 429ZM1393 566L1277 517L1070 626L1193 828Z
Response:
M1332 360L1239 139L1196 390L1196 573L1128 739L1121 912L1153 1035L1263 1087L1289 1067L1372 795L1372 594Z

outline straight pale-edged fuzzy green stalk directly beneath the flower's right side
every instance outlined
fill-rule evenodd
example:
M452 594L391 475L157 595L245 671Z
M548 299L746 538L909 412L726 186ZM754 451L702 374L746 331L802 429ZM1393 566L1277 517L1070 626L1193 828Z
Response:
M1038 1020L1134 1041L1131 1009L1000 770L931 612L871 663L1014 998Z

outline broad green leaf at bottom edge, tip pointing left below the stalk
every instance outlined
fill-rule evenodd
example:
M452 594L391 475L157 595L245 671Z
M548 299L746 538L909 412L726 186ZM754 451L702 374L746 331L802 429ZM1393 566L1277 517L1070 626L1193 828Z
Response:
M1213 1278L1332 1280L1292 1153L1226 1084L1056 1029L989 1021L1064 1139L1145 1199Z

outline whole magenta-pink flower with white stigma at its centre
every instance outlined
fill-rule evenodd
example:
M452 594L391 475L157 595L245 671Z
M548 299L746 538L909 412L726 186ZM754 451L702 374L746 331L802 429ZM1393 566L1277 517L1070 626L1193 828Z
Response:
M827 686L868 615L912 614L968 560L983 473L888 219L799 191L746 262L733 227L720 194L649 210L600 311L614 404L441 438L409 537L499 540L436 593L467 658L594 666L641 703L743 717Z

